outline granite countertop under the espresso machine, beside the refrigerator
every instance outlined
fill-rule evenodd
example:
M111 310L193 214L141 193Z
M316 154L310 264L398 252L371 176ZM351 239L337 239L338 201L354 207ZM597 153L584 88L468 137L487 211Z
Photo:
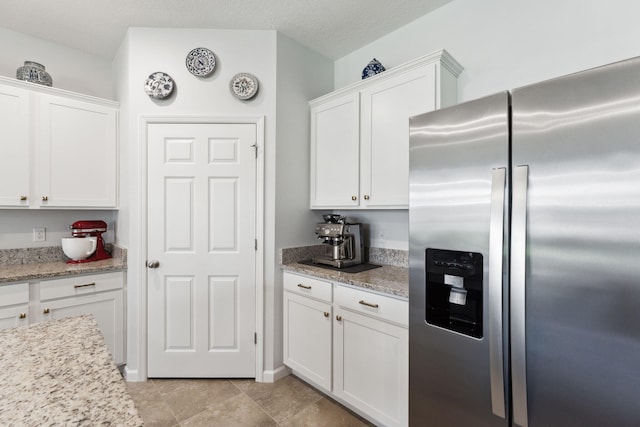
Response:
M403 299L409 298L409 269L394 265L383 265L379 268L361 273L345 273L298 262L283 264L282 269L294 273L308 274L321 279L346 283L366 290L380 292Z

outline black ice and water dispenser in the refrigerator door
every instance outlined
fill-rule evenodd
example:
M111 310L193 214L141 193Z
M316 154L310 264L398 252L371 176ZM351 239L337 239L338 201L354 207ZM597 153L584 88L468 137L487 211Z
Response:
M482 338L482 254L427 249L426 321Z

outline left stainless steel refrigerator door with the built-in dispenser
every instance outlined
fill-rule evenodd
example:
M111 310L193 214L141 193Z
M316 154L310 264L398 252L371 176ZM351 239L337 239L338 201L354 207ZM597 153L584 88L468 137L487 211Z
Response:
M504 92L410 119L411 425L508 425L508 111Z

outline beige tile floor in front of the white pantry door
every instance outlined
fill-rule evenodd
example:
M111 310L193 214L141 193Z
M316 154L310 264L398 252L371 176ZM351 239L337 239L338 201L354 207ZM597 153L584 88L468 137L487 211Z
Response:
M145 426L372 426L290 375L252 379L154 379L127 383Z

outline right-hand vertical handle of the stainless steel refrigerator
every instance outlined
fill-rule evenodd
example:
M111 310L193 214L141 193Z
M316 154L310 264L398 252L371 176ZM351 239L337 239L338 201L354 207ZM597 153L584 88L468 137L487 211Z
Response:
M513 422L528 426L525 282L527 255L527 192L529 166L517 166L513 177L511 220L511 386Z

